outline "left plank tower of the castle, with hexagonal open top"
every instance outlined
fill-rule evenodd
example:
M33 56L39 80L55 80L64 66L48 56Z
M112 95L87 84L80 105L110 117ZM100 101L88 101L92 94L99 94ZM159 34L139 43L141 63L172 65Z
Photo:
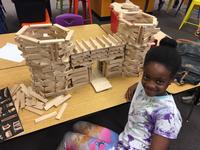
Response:
M32 87L44 97L64 94L71 84L72 35L72 30L57 24L24 26L16 34L18 47L32 73Z

